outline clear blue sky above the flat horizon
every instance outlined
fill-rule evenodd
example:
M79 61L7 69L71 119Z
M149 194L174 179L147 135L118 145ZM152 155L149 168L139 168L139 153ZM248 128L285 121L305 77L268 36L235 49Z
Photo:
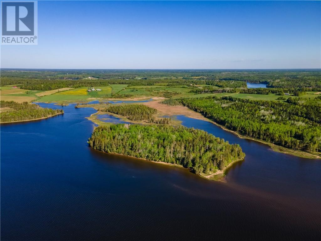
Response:
M320 68L321 2L38 1L2 68Z

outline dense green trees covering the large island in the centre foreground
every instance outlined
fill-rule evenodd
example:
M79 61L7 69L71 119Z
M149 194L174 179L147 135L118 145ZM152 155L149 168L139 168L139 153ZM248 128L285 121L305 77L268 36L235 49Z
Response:
M182 165L197 174L224 169L245 156L239 145L230 145L203 130L183 126L99 126L88 143L108 153Z

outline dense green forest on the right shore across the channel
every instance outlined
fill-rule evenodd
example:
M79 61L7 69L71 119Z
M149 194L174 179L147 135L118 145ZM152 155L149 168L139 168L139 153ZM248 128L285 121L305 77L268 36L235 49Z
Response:
M237 131L276 145L304 151L321 151L321 101L253 101L232 97L185 98L181 103L205 117Z

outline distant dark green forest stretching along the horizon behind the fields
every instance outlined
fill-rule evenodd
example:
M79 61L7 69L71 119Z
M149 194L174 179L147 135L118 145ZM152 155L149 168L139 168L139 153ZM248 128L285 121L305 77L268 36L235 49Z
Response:
M90 77L90 78L89 78ZM21 85L30 90L64 87L135 85L213 85L242 88L245 82L267 87L321 90L320 70L1 70L1 86Z

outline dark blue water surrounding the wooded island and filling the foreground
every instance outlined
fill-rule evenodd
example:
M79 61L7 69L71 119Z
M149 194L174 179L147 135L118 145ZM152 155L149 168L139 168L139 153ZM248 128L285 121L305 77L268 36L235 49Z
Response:
M316 240L320 162L273 152L215 125L186 126L239 143L226 183L88 147L96 112L1 125L1 240Z

